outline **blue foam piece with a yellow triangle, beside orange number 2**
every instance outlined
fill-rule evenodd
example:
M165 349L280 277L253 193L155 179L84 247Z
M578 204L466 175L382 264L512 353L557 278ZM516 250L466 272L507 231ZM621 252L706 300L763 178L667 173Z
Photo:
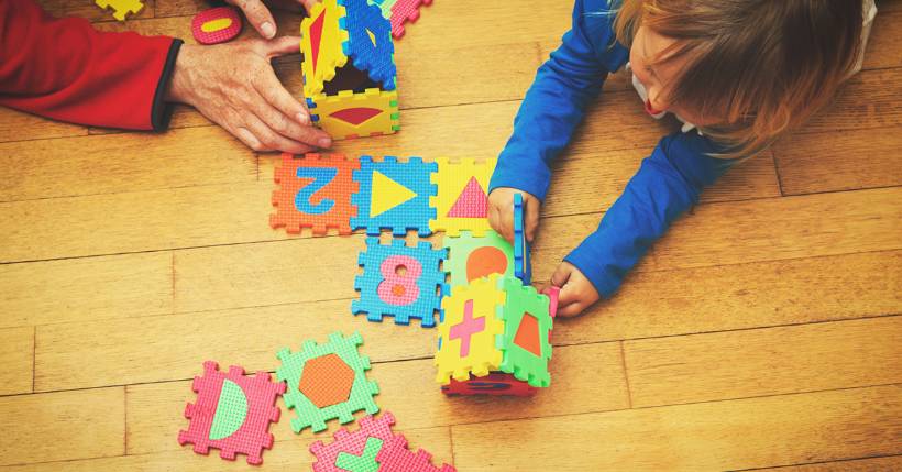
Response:
M430 174L438 169L436 163L425 163L419 157L410 157L400 163L396 157L386 156L381 162L374 162L371 156L362 156L360 171L354 171L354 180L360 183L360 191L351 196L351 202L358 207L358 217L351 218L351 228L366 229L366 234L378 235L382 229L392 230L397 237L405 235L408 230L416 230L420 237L430 234L429 220L436 217L436 209L429 206L429 197L437 193L436 185L430 183ZM381 198L385 198L385 188L374 188L375 173L387 177L376 177L380 180L396 184L407 188L415 197L399 202L382 212L372 211L373 204L385 207ZM392 202L394 204L394 201Z

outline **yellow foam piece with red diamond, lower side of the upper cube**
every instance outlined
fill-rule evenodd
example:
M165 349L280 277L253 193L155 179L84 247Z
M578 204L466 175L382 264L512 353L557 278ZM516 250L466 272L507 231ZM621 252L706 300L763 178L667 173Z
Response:
M308 96L311 97L311 96ZM307 99L310 120L328 132L332 140L393 134L400 130L397 91L367 88L355 94L318 94Z

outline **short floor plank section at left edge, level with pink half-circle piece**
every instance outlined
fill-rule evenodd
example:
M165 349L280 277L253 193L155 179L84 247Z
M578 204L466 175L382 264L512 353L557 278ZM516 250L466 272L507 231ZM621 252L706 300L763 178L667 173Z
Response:
M0 397L0 465L124 453L122 387Z

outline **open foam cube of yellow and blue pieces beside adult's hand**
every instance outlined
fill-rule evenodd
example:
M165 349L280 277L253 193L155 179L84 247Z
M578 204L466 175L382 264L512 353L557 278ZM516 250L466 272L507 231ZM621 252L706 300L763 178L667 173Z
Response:
M400 129L392 24L366 0L323 0L300 23L304 96L332 139Z

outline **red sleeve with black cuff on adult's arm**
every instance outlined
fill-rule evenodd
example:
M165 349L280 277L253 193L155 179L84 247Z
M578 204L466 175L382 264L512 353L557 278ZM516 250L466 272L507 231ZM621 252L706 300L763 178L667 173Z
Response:
M74 123L163 130L180 40L101 33L33 0L0 0L0 105Z

